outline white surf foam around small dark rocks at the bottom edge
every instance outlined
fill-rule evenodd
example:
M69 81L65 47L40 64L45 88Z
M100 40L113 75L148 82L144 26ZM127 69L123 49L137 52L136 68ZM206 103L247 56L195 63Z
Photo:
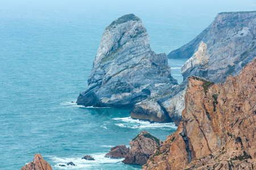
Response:
M76 158L61 158L57 156L49 156L49 159L53 162L53 167L58 169L87 169L92 167L102 167L104 164L116 164L122 163L123 159L110 159L105 158L106 153L96 153L90 154L95 160L85 160L81 159L82 156ZM67 165L67 163L73 162L75 166ZM65 165L65 167L60 167L60 165Z

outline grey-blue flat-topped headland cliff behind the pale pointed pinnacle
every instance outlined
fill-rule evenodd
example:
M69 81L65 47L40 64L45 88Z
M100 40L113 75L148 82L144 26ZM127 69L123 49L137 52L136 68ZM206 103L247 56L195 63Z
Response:
M206 52L209 57L209 80L215 83L224 82L226 76L240 73L242 67L256 56L255 18L256 11L222 12L208 28L188 44L172 51L168 58L190 58L203 41L208 46ZM197 75L189 73L189 70L184 74L185 77Z

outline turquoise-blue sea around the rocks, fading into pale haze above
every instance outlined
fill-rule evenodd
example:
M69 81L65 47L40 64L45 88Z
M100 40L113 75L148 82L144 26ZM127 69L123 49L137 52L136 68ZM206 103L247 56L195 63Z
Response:
M105 27L139 16L156 53L192 40L217 12L255 10L254 1L0 1L0 169L19 169L40 152L53 169L140 169L104 158L140 131L166 139L173 123L133 120L129 109L76 105ZM185 60L169 59L182 82ZM82 160L91 155L95 161ZM73 162L75 167L60 167Z

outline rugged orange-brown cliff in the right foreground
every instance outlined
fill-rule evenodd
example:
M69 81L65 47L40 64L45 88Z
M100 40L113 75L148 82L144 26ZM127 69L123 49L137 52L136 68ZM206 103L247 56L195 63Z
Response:
M142 169L254 169L256 58L214 84L188 78L183 120Z

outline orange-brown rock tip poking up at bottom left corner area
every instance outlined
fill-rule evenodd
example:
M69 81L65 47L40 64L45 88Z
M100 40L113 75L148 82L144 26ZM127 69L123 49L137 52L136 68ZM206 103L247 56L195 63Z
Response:
M40 154L35 154L33 162L26 164L20 170L52 170L52 167Z

